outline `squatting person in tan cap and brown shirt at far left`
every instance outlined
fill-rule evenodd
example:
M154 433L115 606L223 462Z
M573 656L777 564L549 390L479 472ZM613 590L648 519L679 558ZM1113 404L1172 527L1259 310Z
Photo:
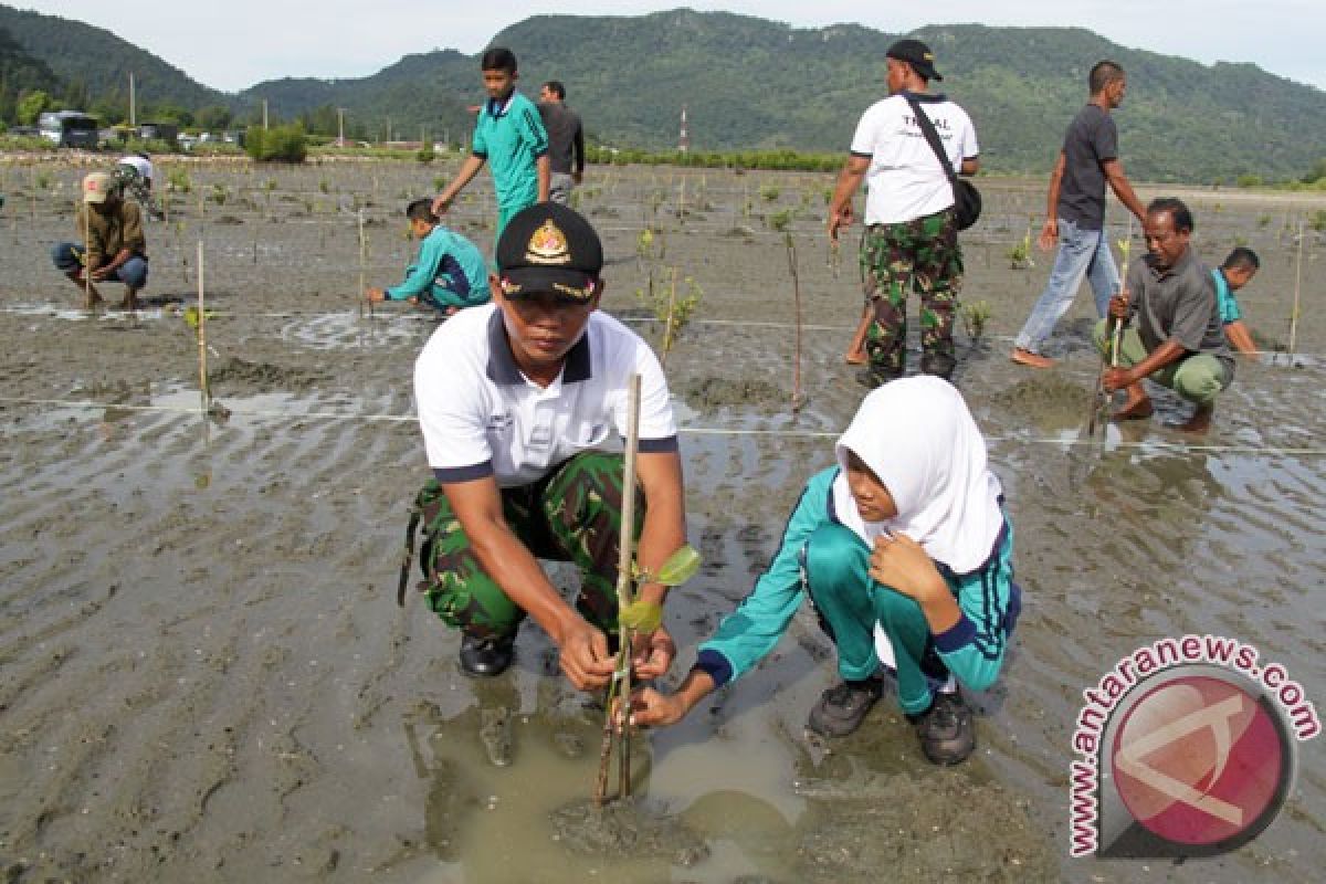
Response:
M123 199L119 184L107 172L91 172L82 180L82 203L74 212L74 228L82 244L57 243L50 260L85 293L86 309L102 302L95 282L123 282L125 310L138 307L138 293L147 285L147 237L138 205Z

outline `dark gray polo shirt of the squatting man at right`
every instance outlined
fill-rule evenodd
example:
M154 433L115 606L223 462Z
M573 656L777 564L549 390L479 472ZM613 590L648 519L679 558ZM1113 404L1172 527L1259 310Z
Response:
M1235 358L1225 343L1224 323L1216 310L1216 284L1211 270L1189 247L1172 268L1158 269L1151 256L1128 268L1130 311L1147 353L1174 341L1189 354L1220 359L1233 380Z

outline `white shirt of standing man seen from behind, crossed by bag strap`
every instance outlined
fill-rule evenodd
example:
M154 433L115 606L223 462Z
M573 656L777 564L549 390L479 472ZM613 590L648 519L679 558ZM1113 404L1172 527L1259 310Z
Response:
M980 154L976 127L967 111L943 95L912 93L935 123L953 171ZM870 159L866 171L866 224L898 224L934 215L953 204L944 167L926 140L902 95L890 95L866 109L851 139L851 152Z

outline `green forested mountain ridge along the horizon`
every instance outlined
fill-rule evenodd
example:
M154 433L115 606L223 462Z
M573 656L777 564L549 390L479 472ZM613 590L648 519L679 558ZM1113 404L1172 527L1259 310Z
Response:
M52 23L62 23L58 38ZM143 94L184 107L228 103L247 117L265 98L274 117L316 118L324 131L342 107L361 137L390 131L414 139L426 130L430 138L459 139L472 126L467 105L483 99L477 57L455 50L406 56L371 77L285 78L227 95L98 28L8 7L0 7L0 28L61 78L95 85L93 93L134 70ZM1254 65L1207 66L1119 46L1081 28L961 24L914 34L931 44L944 74L932 86L975 119L991 171L1048 172L1099 58L1128 72L1116 121L1134 178L1297 178L1326 152L1326 93ZM845 152L861 111L884 94L884 50L898 36L855 24L792 28L674 9L534 16L492 44L520 57L526 94L545 80L565 82L569 103L602 143L670 148L684 105L692 150Z

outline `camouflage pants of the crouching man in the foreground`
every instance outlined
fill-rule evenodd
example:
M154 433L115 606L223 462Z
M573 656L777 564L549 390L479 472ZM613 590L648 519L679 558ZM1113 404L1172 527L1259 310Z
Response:
M617 628L617 557L622 525L622 456L583 452L532 485L504 488L503 514L537 558L574 562L581 573L575 608L601 630ZM420 566L428 607L469 635L513 635L525 612L484 571L447 496L438 493ZM430 509L431 509L430 506ZM635 534L644 505L636 490Z

